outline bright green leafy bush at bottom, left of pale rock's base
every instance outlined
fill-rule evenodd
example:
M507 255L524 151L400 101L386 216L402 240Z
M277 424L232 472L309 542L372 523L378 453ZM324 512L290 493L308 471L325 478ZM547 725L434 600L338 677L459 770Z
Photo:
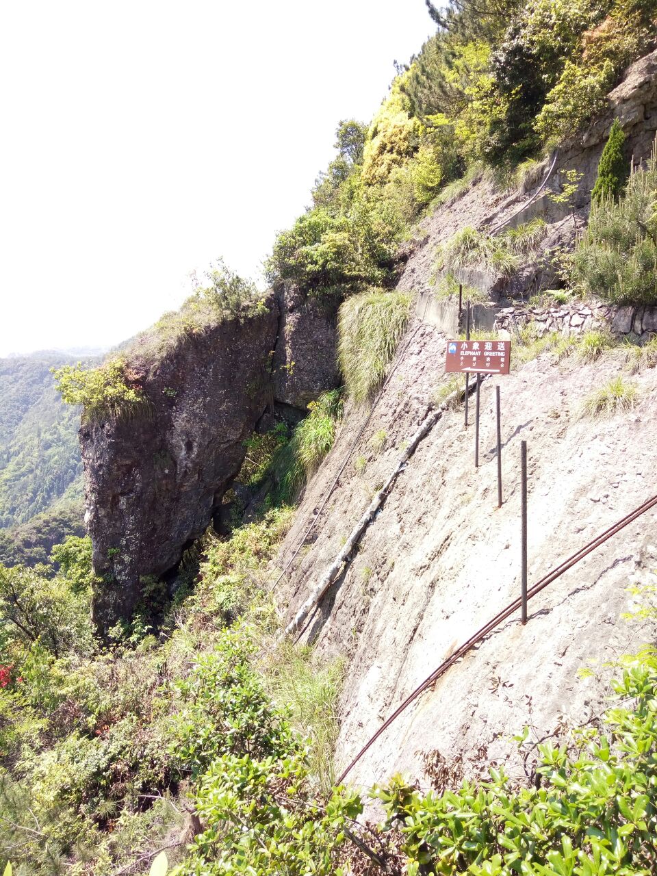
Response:
M272 704L251 666L244 629L226 631L180 684L183 697L172 752L197 783L204 830L182 872L334 874L356 794L312 792L307 747L285 709Z

